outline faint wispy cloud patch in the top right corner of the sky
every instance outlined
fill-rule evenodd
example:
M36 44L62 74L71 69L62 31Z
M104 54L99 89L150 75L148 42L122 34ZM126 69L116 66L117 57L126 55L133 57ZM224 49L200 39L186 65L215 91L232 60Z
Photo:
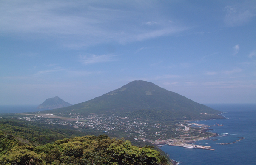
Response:
M243 3L239 6L226 6L224 11L226 15L224 22L227 26L241 26L249 22L253 17L256 16L255 1L250 3Z

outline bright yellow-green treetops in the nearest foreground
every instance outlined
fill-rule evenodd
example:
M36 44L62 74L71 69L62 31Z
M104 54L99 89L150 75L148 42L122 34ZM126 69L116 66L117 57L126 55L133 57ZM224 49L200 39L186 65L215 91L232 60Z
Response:
M15 146L0 155L5 165L168 165L151 147L131 145L106 135L57 140L42 146Z

